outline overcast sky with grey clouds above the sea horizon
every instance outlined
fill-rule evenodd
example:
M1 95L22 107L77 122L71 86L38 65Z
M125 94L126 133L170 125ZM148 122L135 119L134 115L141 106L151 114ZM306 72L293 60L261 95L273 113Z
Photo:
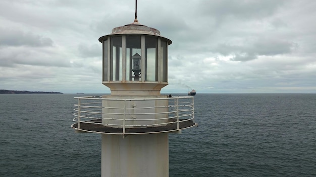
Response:
M137 2L172 40L162 93L316 93L316 1ZM0 89L110 93L98 38L134 21L135 1L1 0Z

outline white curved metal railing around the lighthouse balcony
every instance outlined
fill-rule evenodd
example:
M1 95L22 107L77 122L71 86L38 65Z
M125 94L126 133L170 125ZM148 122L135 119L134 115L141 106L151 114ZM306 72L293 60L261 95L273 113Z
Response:
M73 121L76 123L72 127L77 130L87 131L81 127L81 124L88 123L123 128L123 132L120 134L124 135L127 128L176 124L176 128L169 131L177 131L184 129L179 126L182 122L191 121L194 123L194 97L148 99L75 97L75 99L78 100L78 104L74 105L76 112ZM75 124L78 126L74 127Z

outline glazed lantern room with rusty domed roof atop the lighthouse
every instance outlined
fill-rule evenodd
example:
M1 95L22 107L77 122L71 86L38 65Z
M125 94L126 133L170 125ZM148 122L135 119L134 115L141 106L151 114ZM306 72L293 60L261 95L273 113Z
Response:
M111 95L159 95L168 84L168 45L172 41L159 30L135 19L99 41L103 46L102 83L110 87Z

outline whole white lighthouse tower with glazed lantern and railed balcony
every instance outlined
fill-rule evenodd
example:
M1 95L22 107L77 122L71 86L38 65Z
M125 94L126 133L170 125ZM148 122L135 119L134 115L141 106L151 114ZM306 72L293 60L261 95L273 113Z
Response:
M137 9L137 8L136 8ZM101 176L169 176L169 133L197 125L194 98L161 95L168 45L137 20L100 37L102 84L111 95L75 97L75 132L101 134Z

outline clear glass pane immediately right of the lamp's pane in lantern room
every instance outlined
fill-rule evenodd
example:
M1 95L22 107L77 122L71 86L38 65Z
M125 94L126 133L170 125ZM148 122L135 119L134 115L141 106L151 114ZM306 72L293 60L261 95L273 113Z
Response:
M145 38L145 80L158 81L157 75L157 43L158 38Z

